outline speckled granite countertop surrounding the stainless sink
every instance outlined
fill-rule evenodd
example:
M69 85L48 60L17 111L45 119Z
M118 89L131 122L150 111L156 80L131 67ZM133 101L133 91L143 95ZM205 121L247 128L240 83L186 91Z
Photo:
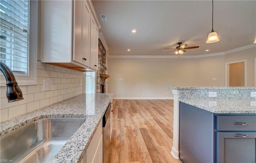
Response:
M85 122L54 156L51 163L80 163L113 94L81 94L5 120L0 123L0 136L44 118L85 118Z

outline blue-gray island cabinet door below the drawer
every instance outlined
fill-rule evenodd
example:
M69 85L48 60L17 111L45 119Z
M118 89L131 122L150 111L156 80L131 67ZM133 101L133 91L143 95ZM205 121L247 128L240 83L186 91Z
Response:
M256 132L218 132L218 163L255 163Z

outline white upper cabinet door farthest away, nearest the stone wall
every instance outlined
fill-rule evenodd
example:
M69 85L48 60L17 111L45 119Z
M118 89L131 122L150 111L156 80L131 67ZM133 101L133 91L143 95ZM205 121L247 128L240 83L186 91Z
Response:
M90 67L98 70L98 27L94 18L91 16L91 51Z

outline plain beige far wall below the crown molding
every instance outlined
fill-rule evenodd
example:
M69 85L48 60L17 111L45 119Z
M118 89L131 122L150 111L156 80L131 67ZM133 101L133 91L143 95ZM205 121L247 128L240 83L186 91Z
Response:
M201 58L108 58L108 92L114 98L160 99L173 97L164 86L221 87L225 63L243 59L248 60L247 86L254 86L254 57L255 47Z

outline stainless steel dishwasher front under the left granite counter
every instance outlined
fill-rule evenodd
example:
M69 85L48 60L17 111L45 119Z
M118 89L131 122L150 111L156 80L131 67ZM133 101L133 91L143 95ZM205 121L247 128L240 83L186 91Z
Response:
M103 163L109 162L110 156L110 111L111 102L108 104L108 108L103 116L102 120L102 133L103 133Z

